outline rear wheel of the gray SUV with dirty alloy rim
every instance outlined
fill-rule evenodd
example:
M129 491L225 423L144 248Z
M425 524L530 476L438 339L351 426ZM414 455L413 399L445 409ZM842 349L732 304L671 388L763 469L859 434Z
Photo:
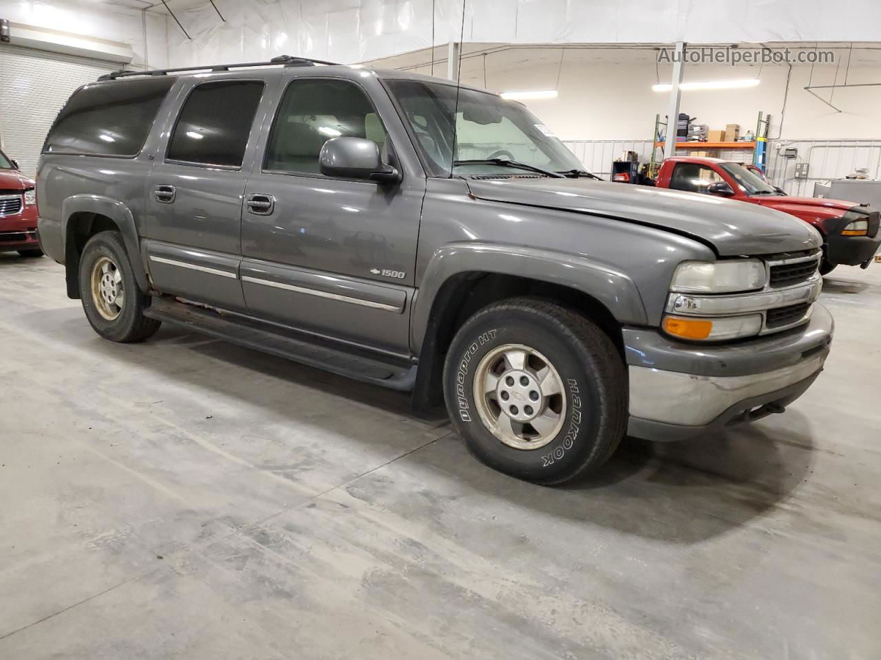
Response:
M150 298L137 287L118 231L100 231L85 244L79 291L85 318L104 339L134 343L159 330L158 320L144 316Z

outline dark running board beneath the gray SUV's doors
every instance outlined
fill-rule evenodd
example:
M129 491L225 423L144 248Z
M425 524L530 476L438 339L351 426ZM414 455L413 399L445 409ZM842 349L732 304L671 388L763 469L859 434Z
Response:
M393 390L410 392L416 382L415 364L386 362L306 341L238 314L154 297L144 316Z

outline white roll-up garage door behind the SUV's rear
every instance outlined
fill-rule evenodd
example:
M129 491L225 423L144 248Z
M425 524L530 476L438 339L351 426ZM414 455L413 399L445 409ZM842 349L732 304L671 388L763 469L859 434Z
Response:
M0 48L0 144L6 155L33 176L43 139L70 94L79 85L120 69L122 63L32 48Z

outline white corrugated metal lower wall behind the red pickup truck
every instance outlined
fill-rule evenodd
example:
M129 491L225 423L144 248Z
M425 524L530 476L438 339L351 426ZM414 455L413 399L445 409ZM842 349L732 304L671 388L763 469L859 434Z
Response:
M640 154L640 163L651 158L651 140L566 140L568 147L591 172L608 178L611 163L622 151ZM796 158L783 158L781 147L795 147ZM661 157L658 150L657 157ZM725 158L737 162L752 160L751 150L728 150ZM807 179L796 179L796 163L808 163ZM772 140L768 143L768 177L787 194L814 195L820 180L842 179L857 167L869 168L869 175L881 179L881 139L878 140Z

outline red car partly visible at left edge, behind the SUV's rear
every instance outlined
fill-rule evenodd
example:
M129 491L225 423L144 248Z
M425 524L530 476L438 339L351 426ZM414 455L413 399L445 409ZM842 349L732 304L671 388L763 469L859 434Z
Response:
M37 239L37 192L33 179L0 151L0 252L41 257Z

